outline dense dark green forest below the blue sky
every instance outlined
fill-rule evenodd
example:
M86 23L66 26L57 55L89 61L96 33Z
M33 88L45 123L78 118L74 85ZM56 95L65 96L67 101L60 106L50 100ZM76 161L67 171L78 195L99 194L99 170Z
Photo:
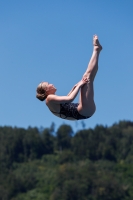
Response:
M0 200L133 199L133 122L0 127Z

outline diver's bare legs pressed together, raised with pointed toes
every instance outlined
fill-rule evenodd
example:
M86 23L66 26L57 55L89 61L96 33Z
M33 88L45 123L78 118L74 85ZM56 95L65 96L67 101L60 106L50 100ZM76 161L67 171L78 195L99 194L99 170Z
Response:
M93 81L98 70L98 58L102 46L98 41L96 35L93 36L93 53L88 64L87 70L83 75L83 79L87 80L87 83L83 85L80 90L80 101L78 110L82 115L92 115L95 112L95 103L94 103L94 89Z

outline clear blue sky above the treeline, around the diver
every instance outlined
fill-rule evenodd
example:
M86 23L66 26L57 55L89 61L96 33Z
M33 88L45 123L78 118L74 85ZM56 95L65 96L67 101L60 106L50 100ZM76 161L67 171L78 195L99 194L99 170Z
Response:
M50 127L81 121L55 117L35 98L41 81L67 95L82 77L92 36L103 46L86 128L133 121L133 1L0 1L0 126ZM75 102L78 99L75 100Z

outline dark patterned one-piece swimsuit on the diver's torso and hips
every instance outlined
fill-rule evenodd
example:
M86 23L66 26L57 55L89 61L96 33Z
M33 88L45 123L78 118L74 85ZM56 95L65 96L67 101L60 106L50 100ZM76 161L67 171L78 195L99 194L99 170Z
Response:
M64 104L60 104L60 112L53 112L53 113L57 113L60 114L60 118L62 119L66 119L67 117L72 117L74 119L80 120L80 119L87 119L91 116L85 117L83 115L80 115L77 107L78 107L78 103L64 103ZM62 115L64 115L65 117L62 117Z

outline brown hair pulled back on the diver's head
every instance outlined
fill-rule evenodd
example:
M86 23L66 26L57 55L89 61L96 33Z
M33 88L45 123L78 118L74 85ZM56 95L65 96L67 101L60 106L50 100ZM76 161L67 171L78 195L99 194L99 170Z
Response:
M46 89L42 88L42 83L43 82L41 82L36 89L36 98L40 101L44 101L47 98L47 91Z

